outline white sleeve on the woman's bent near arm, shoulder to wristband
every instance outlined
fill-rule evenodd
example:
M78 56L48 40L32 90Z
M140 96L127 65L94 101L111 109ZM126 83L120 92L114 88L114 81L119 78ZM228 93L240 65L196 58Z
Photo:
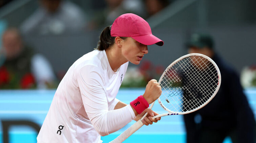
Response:
M103 88L104 78L98 67L85 66L77 72L77 82L85 111L101 136L118 131L135 118L129 104L120 109L108 110L107 96Z

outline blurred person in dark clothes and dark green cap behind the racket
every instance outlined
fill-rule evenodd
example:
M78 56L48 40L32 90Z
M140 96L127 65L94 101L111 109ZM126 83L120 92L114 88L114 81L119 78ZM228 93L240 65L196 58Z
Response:
M193 34L187 43L188 53L210 57L219 67L221 85L204 108L184 115L187 143L222 143L230 136L233 143L255 143L255 118L235 70L213 49L206 34Z

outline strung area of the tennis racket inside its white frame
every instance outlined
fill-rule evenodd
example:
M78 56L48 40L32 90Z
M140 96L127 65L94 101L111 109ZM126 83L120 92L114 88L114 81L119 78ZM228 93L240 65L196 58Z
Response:
M186 112L211 98L218 85L218 74L207 59L191 56L170 67L160 84L162 104L173 112Z

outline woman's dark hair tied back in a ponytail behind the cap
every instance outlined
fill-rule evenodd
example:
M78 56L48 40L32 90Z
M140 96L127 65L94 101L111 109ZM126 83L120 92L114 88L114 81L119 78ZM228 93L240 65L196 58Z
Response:
M101 51L106 50L108 47L112 46L115 43L115 37L111 36L110 30L111 30L111 26L107 26L103 29L96 49ZM126 39L126 37L120 37L120 38Z

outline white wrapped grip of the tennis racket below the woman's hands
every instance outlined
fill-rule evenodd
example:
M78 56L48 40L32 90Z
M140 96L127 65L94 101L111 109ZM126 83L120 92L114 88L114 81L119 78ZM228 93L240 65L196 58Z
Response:
M131 127L126 129L121 135L119 135L113 141L111 141L109 143L122 143L124 140L126 140L128 137L130 137L134 132L136 132L142 126L143 126L143 122L141 120L138 120Z

